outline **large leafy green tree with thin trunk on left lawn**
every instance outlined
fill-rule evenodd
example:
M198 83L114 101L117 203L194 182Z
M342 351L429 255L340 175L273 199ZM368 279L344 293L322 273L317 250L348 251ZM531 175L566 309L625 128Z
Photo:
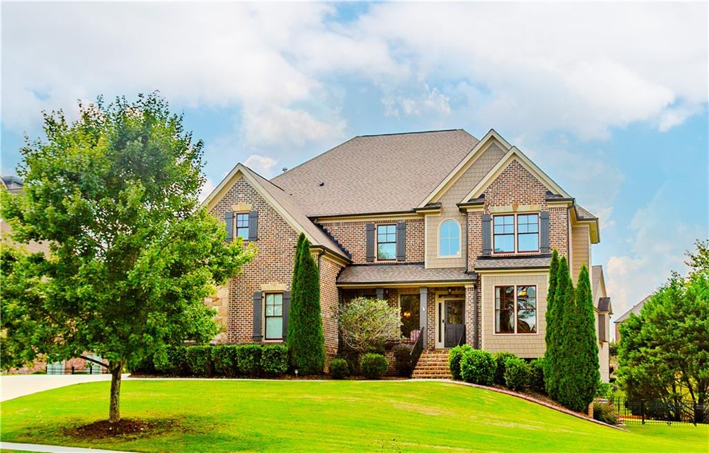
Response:
M22 148L22 194L0 191L18 243L3 252L2 367L94 352L111 372L108 418L120 420L121 373L167 345L211 340L203 299L253 256L225 242L199 206L202 142L152 94L79 106L73 123L46 114L45 140Z

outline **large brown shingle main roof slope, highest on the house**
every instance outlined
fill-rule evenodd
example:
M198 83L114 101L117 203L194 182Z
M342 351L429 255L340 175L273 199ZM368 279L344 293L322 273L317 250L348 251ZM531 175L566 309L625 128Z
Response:
M272 181L311 217L410 211L477 142L462 129L362 135Z

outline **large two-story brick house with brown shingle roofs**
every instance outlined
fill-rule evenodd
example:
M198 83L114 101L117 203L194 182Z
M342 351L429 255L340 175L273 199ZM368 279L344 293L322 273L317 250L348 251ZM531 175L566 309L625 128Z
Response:
M302 232L320 268L328 358L335 308L360 295L398 306L403 341L540 357L552 250L576 281L599 241L598 218L495 130L357 136L270 180L237 164L204 204L259 251L207 301L218 340L283 341ZM601 268L589 270L603 345L610 301Z

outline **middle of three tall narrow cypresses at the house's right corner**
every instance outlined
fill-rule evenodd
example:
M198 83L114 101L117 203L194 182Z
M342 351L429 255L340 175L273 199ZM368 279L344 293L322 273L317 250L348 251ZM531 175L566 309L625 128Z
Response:
M566 262L566 257L562 256L559 259L559 269L557 270L557 283L554 291L553 308L554 313L553 323L554 332L552 333L552 343L547 345L551 354L549 355L549 376L545 376L545 386L549 397L556 400L559 398L559 385L564 371L564 339L566 331L564 330L564 319L569 312L569 306L574 300L574 285L571 283L569 276L569 264Z

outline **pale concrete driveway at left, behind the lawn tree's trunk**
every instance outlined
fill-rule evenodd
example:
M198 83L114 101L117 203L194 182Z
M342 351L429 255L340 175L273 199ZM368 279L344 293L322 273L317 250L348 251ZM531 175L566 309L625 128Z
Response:
M123 379L128 374L123 374ZM84 382L111 381L111 374L13 374L0 376L0 401Z

